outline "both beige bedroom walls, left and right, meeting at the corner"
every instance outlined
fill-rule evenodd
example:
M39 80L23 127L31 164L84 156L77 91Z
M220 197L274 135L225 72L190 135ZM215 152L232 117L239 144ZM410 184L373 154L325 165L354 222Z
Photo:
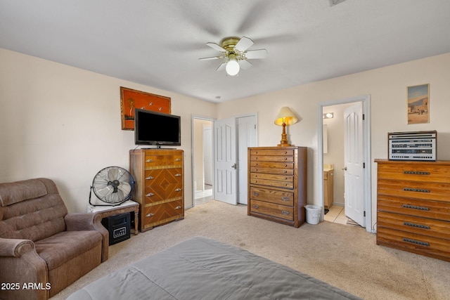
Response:
M290 141L309 147L308 203L319 204L319 103L369 94L373 223L373 159L387 157L387 132L437 130L438 159L450 159L450 53L219 105L4 49L0 65L0 182L52 178L70 211L85 211L97 171L128 167L128 151L135 145L133 131L120 129L120 86L172 98L172 113L182 119L186 207L192 205L191 115L222 119L257 112L258 141L264 146L279 143L281 127L274 119L280 107L292 107L300 122L288 127ZM406 124L406 86L428 83L430 123Z

